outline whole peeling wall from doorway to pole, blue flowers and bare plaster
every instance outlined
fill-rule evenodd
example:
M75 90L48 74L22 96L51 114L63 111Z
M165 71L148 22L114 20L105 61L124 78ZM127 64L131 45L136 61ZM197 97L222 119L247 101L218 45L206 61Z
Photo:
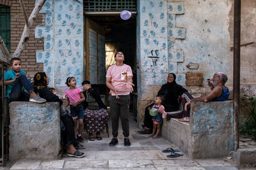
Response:
M204 82L214 73L228 72L231 4L227 1L146 1L138 6L138 111L151 103L168 73L186 85L187 72L202 72ZM198 69L186 67L189 63ZM209 91L189 87L195 94Z

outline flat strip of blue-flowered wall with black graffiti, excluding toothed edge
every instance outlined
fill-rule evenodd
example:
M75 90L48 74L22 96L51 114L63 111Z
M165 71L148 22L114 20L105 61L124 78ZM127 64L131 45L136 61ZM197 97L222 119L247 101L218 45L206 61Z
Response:
M161 85L168 73L167 1L140 1L140 74L145 85Z

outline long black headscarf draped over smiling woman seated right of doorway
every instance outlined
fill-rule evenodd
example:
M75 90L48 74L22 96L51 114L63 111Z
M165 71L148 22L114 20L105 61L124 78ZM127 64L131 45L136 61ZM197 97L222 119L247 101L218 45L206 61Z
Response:
M175 111L179 108L178 97L188 90L184 89L181 85L176 83L176 75L174 73L169 73L168 76L173 75L172 83L164 84L159 92L158 96L164 96L163 105L166 111Z

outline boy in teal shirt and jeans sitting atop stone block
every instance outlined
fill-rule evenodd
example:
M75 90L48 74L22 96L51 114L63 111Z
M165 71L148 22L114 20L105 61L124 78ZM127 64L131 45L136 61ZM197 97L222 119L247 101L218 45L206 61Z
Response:
M35 103L44 103L45 99L39 97L33 91L31 83L29 83L25 71L20 70L21 60L14 57L10 60L11 70L4 74L4 85L7 85L7 95L10 101L31 101ZM28 91L24 92L24 88Z

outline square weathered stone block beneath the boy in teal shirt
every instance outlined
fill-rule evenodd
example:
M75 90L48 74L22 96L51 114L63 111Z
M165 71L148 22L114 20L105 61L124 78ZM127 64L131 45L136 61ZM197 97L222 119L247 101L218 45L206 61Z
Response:
M10 103L10 160L60 158L60 104Z

